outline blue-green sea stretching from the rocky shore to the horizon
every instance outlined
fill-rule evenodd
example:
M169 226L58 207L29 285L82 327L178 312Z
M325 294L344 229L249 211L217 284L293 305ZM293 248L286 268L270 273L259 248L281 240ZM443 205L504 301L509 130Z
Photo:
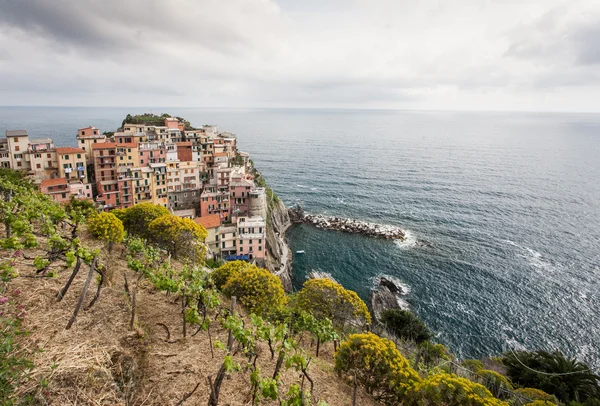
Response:
M237 134L288 205L410 235L296 226L296 288L321 270L367 300L390 275L461 357L559 348L600 367L600 115L0 108L0 131L74 145L80 127L146 111Z

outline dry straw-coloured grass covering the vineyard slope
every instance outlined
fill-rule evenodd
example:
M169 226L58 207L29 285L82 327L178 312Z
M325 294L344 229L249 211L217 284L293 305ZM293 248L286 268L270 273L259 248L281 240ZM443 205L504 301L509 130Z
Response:
M88 245L95 241L86 241ZM57 278L30 278L32 269L22 269L21 277L11 282L11 289L20 289L27 311L25 328L31 334L23 345L33 351L35 368L21 394L35 393L39 404L48 405L175 405L198 382L194 394L185 405L205 405L209 388L207 377L216 375L224 353L215 349L211 358L208 335L189 331L182 337L179 303L175 297L157 292L141 281L137 294L138 318L129 330L130 305L123 289L125 261L118 258L120 249L110 256L113 278L102 289L100 300L90 310L80 311L70 330L65 326L75 308L89 267L82 269L68 294L56 302L56 293L69 277L70 270ZM107 254L103 261L108 258ZM130 283L132 272L129 271ZM86 304L95 293L90 287ZM166 342L164 323L171 333ZM215 323L216 324L216 323ZM213 328L213 340L226 341L226 331ZM307 352L314 350L307 345ZM238 358L243 365L245 360ZM266 347L260 349L258 365L264 375L273 372L275 360ZM350 405L352 387L333 374L333 348L321 349L313 358L309 373L315 382L313 404L325 400L331 406ZM222 385L219 404L250 405L250 373L243 370L227 377ZM283 388L299 383L300 376L288 370L282 374ZM43 385L40 384L43 383ZM308 382L306 382L308 385ZM265 402L275 405L278 402ZM357 404L375 405L364 393Z

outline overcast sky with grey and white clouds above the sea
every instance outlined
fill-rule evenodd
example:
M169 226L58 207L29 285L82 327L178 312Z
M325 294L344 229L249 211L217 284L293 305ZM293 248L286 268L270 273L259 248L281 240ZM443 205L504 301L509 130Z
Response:
M0 105L600 112L600 0L0 0Z

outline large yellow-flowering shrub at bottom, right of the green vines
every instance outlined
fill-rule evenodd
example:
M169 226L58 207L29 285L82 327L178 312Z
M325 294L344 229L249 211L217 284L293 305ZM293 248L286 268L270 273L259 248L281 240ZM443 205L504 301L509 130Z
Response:
M419 376L393 342L373 333L352 334L335 354L335 370L352 376L386 404L398 404Z

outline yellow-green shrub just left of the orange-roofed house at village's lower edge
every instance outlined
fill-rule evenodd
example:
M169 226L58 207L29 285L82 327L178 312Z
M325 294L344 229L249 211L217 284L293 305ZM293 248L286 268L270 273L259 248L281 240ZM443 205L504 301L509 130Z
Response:
M165 214L148 225L148 233L152 242L175 258L192 263L204 262L206 248L203 243L207 232L195 221Z

